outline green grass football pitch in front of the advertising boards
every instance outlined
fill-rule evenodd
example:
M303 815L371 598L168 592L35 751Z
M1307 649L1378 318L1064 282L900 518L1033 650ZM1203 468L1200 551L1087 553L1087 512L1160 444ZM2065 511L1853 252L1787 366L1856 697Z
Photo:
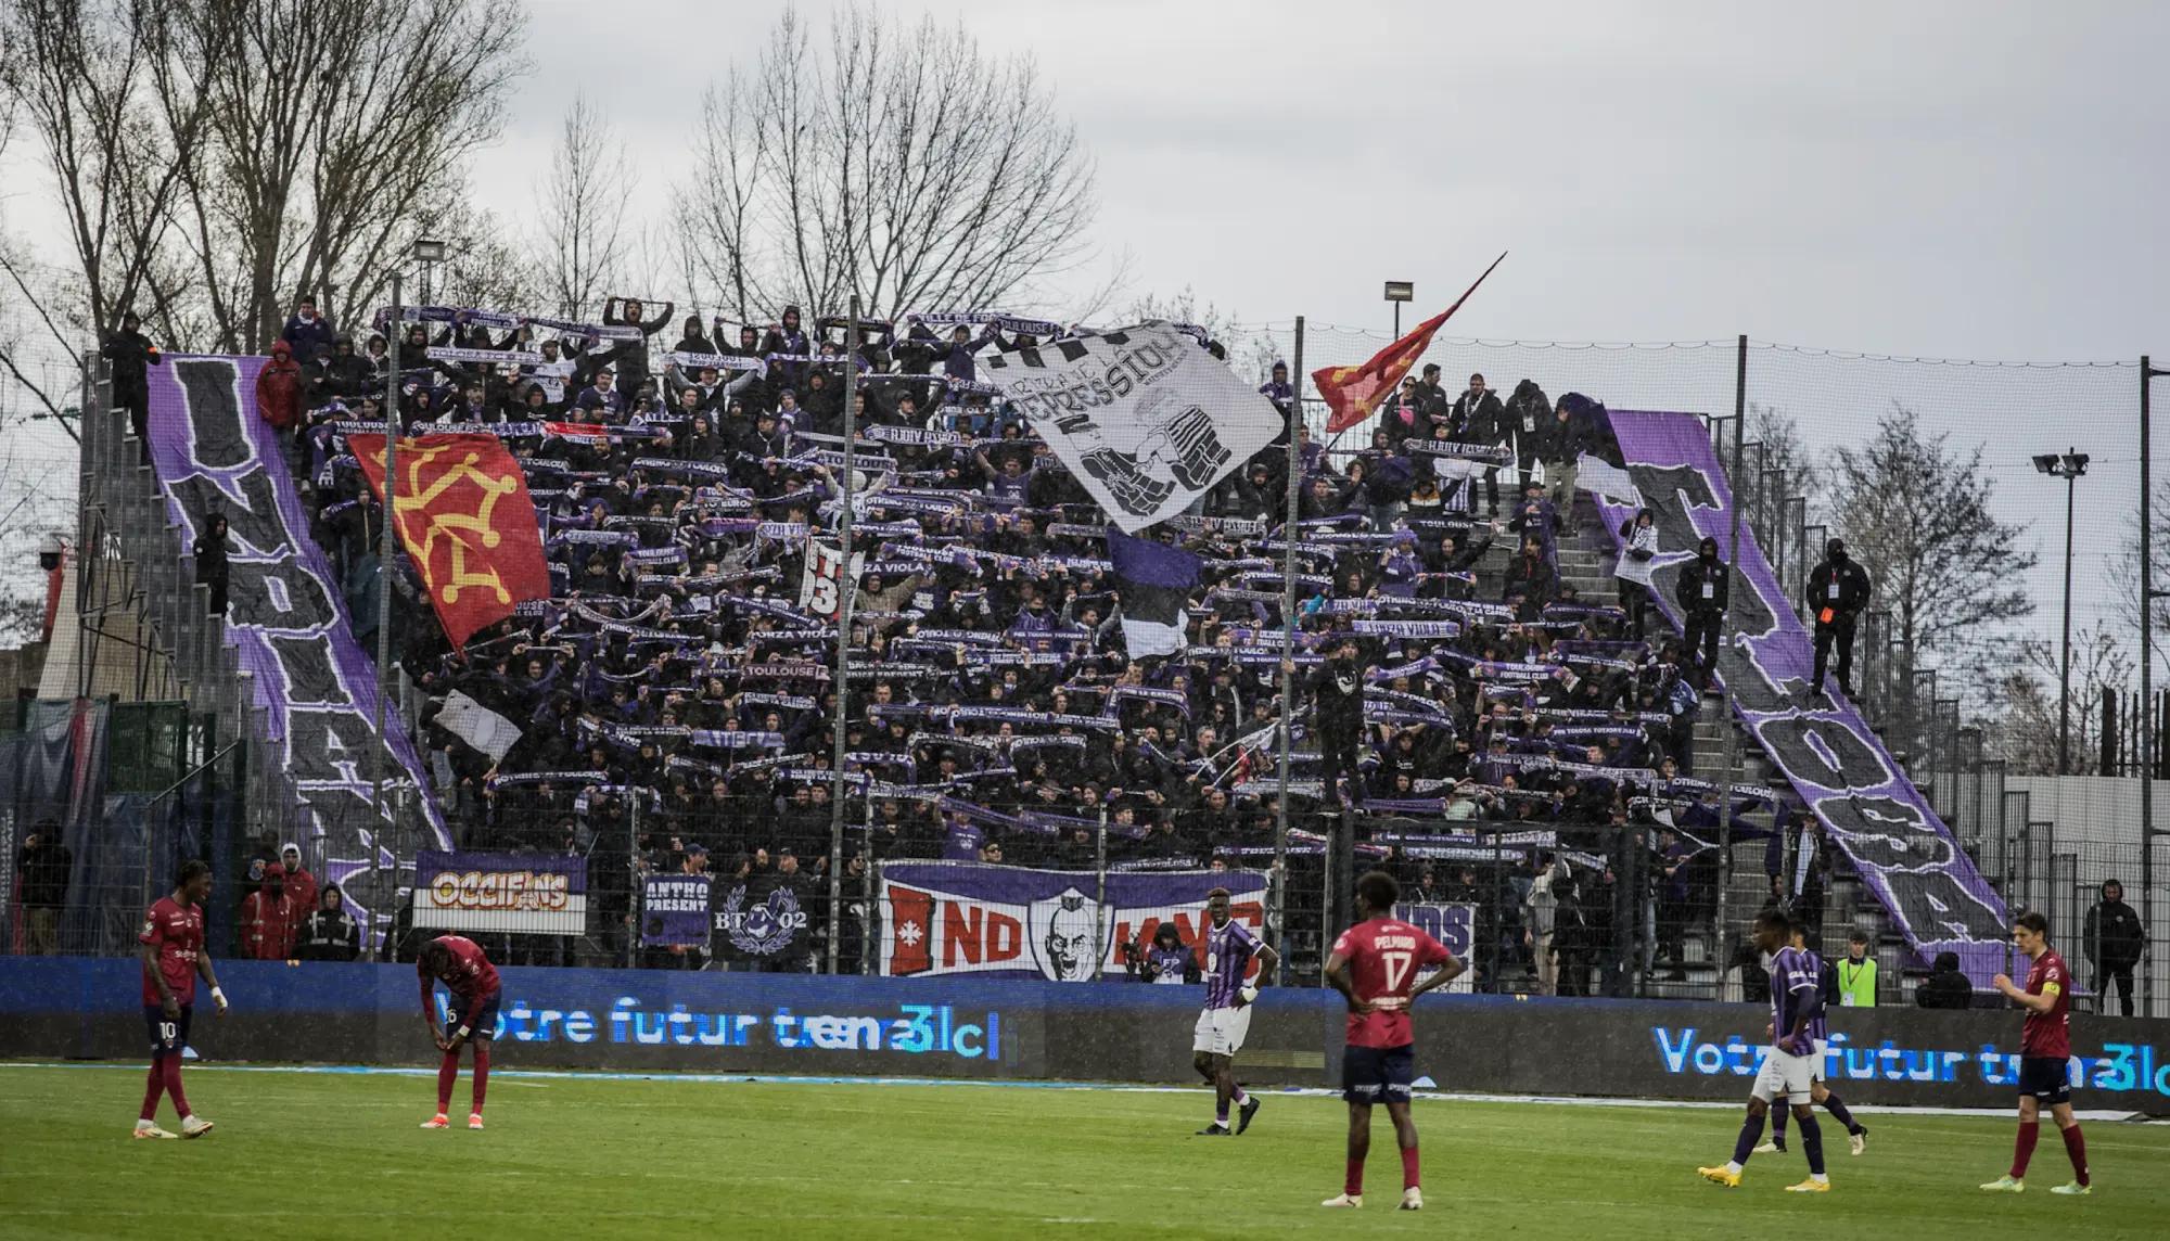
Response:
M1207 1091L490 1076L484 1133L417 1128L434 1074L189 1067L200 1141L132 1141L141 1067L0 1065L4 1237L2161 1237L2170 1126L2094 1122L2096 1195L2042 1135L2027 1193L1975 1185L2012 1122L1877 1115L1868 1154L1838 1126L1829 1195L1784 1193L1805 1165L1762 1154L1740 1189L1697 1180L1738 1115L1684 1106L1426 1098L1424 1215L1393 1211L1400 1163L1376 1117L1367 1206L1341 1189L1345 1109L1265 1093L1252 1130L1191 1137ZM161 1124L171 1126L171 1115ZM467 1078L454 1093L467 1113ZM2048 1128L2048 1126L2044 1126Z

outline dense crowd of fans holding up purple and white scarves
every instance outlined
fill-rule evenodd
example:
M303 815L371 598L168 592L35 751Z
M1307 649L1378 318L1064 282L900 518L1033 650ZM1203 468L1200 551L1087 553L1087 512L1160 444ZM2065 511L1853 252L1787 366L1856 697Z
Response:
M410 434L512 447L551 599L456 653L399 566L395 651L458 844L584 853L605 922L644 872L825 896L833 627L796 603L807 534L840 512L851 367L853 879L898 857L1092 868L1102 816L1115 866L1263 868L1276 727L1293 720L1300 857L1348 807L1417 892L1471 890L1499 972L1586 989L1578 965L1623 942L1612 926L1645 968L1662 950L1677 970L1719 814L1690 770L1697 675L1649 627L1643 586L1584 599L1560 575L1584 534L1575 462L1619 462L1604 408L1534 380L1506 399L1482 375L1447 391L1426 367L1358 445L1298 423L1295 660L1285 670L1287 440L1157 532L1207 571L1185 647L1133 660L1100 510L979 378L983 351L1061 332L929 315L846 341L844 321L790 306L703 325L612 297L592 325L419 308L356 343L304 302L258 406L365 642L382 510L345 436L384 425L393 334ZM1282 364L1261 393L1293 414ZM516 722L519 744L493 759L443 727L454 692ZM1734 796L1747 811L1771 794ZM1523 833L1476 857L1469 833L1502 822ZM1469 859L1458 885L1441 881L1452 859Z

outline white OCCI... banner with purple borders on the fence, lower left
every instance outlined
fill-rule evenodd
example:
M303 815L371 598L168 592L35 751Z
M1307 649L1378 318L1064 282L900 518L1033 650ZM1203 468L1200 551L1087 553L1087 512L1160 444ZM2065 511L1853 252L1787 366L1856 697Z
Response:
M414 924L438 931L584 935L588 859L421 850L414 855Z

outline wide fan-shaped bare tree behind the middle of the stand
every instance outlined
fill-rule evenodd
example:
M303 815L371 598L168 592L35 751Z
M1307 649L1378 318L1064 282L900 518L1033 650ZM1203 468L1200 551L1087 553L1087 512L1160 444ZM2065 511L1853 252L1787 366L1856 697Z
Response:
M838 11L825 52L794 11L710 89L675 189L688 267L740 321L786 302L872 315L1035 304L1083 256L1094 167L1026 59L963 26Z

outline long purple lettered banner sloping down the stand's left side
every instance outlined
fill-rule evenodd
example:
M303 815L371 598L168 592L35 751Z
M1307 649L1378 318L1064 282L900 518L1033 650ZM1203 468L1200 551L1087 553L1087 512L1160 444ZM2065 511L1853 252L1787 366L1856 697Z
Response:
M369 755L378 749L375 664L354 640L339 577L308 534L278 438L256 417L263 358L167 356L150 369L150 456L195 547L213 512L228 527L226 638L252 673L256 705L269 716L276 762L299 790L323 850L323 879L347 890L358 916L393 907L397 840L378 844ZM451 846L445 816L421 762L386 718L393 805L421 805L434 840ZM417 801L419 798L419 801Z

